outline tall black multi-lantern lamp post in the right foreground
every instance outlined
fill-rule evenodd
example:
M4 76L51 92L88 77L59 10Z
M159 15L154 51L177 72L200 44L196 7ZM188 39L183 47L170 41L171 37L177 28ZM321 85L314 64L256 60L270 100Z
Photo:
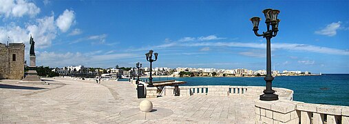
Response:
M266 32L263 34L258 34L258 25L260 24L260 17L252 17L250 20L253 23L253 32L257 37L266 38L266 76L264 80L266 81L266 90L264 90L264 94L260 95L260 100L262 101L276 101L278 95L275 94L275 91L272 89L272 81L274 77L271 75L271 38L276 37L277 32L279 31L279 22L280 19L277 19L277 14L279 14L279 10L266 9L262 11L264 13L264 17L266 18ZM270 29L271 27L271 29Z

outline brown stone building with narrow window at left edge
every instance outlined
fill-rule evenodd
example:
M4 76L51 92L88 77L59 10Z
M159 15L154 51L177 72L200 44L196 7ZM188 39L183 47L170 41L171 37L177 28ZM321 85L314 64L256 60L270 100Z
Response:
M24 48L24 43L0 43L0 79L23 79Z

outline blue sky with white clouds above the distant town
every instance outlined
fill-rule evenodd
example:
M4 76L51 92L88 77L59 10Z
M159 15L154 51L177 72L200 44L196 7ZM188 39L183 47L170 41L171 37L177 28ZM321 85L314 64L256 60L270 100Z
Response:
M280 10L275 70L349 73L349 1L12 1L0 3L0 42L36 41L37 65L110 68L266 68L251 17ZM10 37L10 39L8 39ZM28 59L28 57L26 57Z

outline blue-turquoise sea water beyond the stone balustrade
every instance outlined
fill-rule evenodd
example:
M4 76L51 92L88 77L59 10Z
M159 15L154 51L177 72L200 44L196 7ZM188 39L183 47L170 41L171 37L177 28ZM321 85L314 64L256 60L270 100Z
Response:
M264 77L165 77L160 80L187 81L182 85L255 85L265 86ZM154 81L159 78L154 77ZM277 76L273 87L294 91L293 100L349 106L349 74L322 74L321 76ZM320 88L328 90L320 90Z

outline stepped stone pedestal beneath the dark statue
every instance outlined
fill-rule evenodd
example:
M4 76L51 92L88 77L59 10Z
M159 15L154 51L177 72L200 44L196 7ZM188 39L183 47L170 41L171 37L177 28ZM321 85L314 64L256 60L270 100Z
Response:
M19 83L32 83L32 84L43 84L45 81L42 81L36 72L36 64L35 64L36 56L34 54L30 54L30 66L28 75L25 76L23 81L19 81Z

